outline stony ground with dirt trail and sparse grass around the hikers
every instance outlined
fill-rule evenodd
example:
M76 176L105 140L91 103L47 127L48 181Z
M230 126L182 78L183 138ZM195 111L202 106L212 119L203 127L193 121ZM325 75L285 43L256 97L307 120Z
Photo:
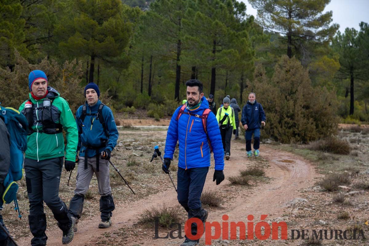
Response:
M154 121L151 119L122 120L119 128L120 138L117 148L112 153L112 162L130 183L137 195L133 195L126 187L115 170L111 169L111 187L116 209L112 218L113 226L98 229L99 194L97 180L93 177L90 191L86 196L79 232L70 245L179 245L183 239L154 239L153 225L138 223L139 215L144 209L160 206L166 202L169 207L177 206L176 194L167 175L161 170L158 159L150 163L154 145L164 147L166 126L169 120ZM162 126L164 125L164 126ZM133 126L133 127L132 127ZM254 225L261 221L285 221L288 226L288 240L230 240L214 239L212 245L306 245L307 240L291 239L291 230L327 229L345 231L349 228L362 229L364 236L369 238L369 226L365 224L368 216L368 189L355 188L359 181L369 180L369 134L352 132L349 127L339 132L339 138L351 144L351 154L347 156L332 155L307 150L306 146L279 145L263 143L259 159L247 159L244 140L232 140L231 159L225 162L226 180L219 186L213 183L213 163L210 167L205 190L216 191L221 199L220 207L206 207L209 211L208 222L224 222L223 215L229 216L228 222L249 222L247 216L253 215ZM177 153L175 154L175 159ZM172 165L174 166L174 165ZM265 171L265 178L253 180L249 186L231 185L227 177L236 176L240 170L258 166ZM345 184L337 191L327 192L318 182L330 173L347 172L350 184ZM176 183L175 169L172 170ZM60 197L69 204L75 187L76 171L72 172L69 187L66 185L69 173L62 174ZM10 233L15 236L19 245L30 245L28 228L28 200L25 195L25 183L21 181L19 204L23 218L17 218L12 205L4 206L2 214ZM335 202L337 195L342 194L343 202ZM181 208L179 208L181 209ZM61 245L62 233L56 226L51 211L45 205L48 217L48 245ZM338 215L347 212L345 219ZM185 218L183 212L183 218ZM345 217L345 216L344 216ZM182 236L184 219L182 221ZM173 229L159 228L158 235L163 237ZM339 231L337 231L339 232ZM333 232L334 233L334 232ZM178 231L173 233L176 237ZM213 231L214 235L214 231ZM239 236L239 233L237 234ZM343 235L343 234L342 234ZM247 234L246 234L247 236ZM296 232L295 232L296 236ZM349 237L349 233L346 235ZM356 235L358 236L358 235ZM339 236L338 236L339 238ZM324 239L324 231L323 231ZM368 240L323 240L322 245L369 245ZM200 240L205 245L205 238ZM317 243L311 245L318 245Z

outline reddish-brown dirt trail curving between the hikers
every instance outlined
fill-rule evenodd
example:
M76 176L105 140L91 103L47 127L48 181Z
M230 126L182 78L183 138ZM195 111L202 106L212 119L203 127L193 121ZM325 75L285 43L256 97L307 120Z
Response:
M165 133L164 133L165 134ZM229 187L227 177L239 174L239 170L253 164L252 160L246 158L245 146L243 141L232 141L231 159L225 161L224 173L226 179L219 185L215 186L213 182L213 170L209 170L204 190L210 189L225 189ZM268 183L261 183L258 186L251 187L249 191L242 191L239 194L234 194L235 198L230 199L227 203L224 202L222 209L217 209L209 214L208 221L222 221L222 215L229 215L229 221L247 222L246 216L254 215L254 222L258 222L261 214L268 214L266 220L272 220L282 216L283 208L286 203L298 197L298 191L302 188L310 187L314 183L314 177L317 174L313 166L301 157L287 152L277 151L261 145L261 155L269 161L270 167L266 169L266 176L270 177ZM172 174L173 175L173 174ZM137 215L146 208L152 205L162 204L167 202L169 206L177 205L176 193L173 192L173 187L169 184L166 190L149 195L147 198L122 205L119 201L115 201L115 211L112 218L113 225L108 229L98 229L97 225L100 218L89 221L80 221L78 224L78 232L75 234L70 246L73 245L95 245L96 238L106 232L113 232L119 228L129 228L137 222ZM48 245L62 245L61 231L47 231ZM168 239L152 239L153 235L145 236L144 238L132 239L128 245L139 243L140 245L166 245L176 242L183 242L183 239L168 240ZM30 245L31 238L23 238L19 241L19 245ZM204 241L201 240L201 243Z

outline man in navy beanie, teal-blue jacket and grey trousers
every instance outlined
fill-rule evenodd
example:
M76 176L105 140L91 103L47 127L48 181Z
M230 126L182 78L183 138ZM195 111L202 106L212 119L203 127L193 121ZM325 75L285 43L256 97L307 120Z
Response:
M83 202L92 175L95 173L99 183L101 222L99 228L111 225L114 201L111 196L109 163L110 153L118 140L118 130L113 112L99 100L100 90L97 84L89 83L85 87L86 103L76 112L79 150L78 173L74 197L70 200L69 211L76 218L74 231L82 215Z

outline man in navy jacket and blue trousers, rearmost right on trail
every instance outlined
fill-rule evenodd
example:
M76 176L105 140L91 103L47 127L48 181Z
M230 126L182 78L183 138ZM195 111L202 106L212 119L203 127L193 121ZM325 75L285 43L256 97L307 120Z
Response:
M247 157L252 157L251 138L254 134L254 156L259 157L260 146L260 127L265 126L265 112L263 106L256 102L256 95L254 92L249 93L248 101L242 109L241 122L244 126Z

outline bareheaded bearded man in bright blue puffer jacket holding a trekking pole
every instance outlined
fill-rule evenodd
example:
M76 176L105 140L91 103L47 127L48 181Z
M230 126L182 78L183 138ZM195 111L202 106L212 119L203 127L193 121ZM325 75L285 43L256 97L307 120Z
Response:
M220 184L224 180L224 152L218 127L213 112L208 110L209 104L204 97L203 84L199 80L189 80L187 86L186 108L180 113L182 106L174 112L169 124L165 143L163 171L169 173L170 160L173 159L177 141L179 141L179 160L177 173L177 199L188 212L188 218L199 218L205 223L208 212L201 207L201 193L210 166L210 146L214 153L215 171L213 181ZM209 114L204 131L201 116L204 110ZM196 235L197 226L191 225L192 235ZM190 240L185 236L181 246L194 246L199 240Z

